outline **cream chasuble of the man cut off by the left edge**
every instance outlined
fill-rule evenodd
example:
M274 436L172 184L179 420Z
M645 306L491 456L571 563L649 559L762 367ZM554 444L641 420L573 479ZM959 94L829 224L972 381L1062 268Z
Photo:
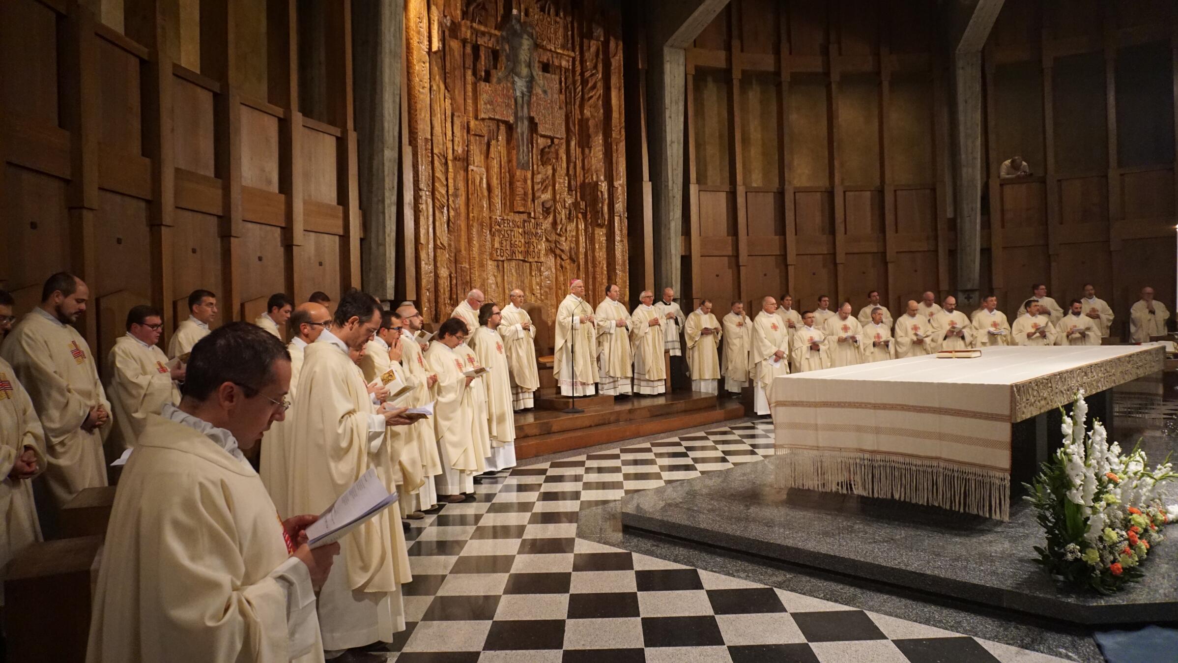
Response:
M28 392L12 366L0 359L0 569L26 545L41 541L33 504L33 478L8 476L25 447L37 456L37 473L45 471L45 432ZM0 583L0 605L4 584Z

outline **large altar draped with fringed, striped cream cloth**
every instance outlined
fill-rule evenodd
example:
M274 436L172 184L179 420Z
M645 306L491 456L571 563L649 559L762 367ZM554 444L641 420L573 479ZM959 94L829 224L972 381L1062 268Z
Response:
M1106 403L1164 360L1160 346L1017 346L781 376L776 482L1006 521L1012 472L1032 476L1051 452L1048 413L1078 389Z

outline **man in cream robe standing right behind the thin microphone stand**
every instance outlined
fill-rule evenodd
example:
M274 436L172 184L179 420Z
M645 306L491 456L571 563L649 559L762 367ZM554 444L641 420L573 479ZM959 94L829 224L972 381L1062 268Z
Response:
M556 346L552 377L561 396L593 396L597 385L597 327L593 306L585 301L585 284L573 279L569 293L556 310Z

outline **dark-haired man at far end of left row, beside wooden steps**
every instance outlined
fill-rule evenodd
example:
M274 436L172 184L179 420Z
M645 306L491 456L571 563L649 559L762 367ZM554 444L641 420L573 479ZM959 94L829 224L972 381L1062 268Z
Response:
M488 370L479 377L487 395L487 432L491 452L487 470L498 472L515 468L515 410L511 409L511 380L508 378L508 357L498 327L503 324L498 305L488 301L478 310L482 326L475 331L475 357Z

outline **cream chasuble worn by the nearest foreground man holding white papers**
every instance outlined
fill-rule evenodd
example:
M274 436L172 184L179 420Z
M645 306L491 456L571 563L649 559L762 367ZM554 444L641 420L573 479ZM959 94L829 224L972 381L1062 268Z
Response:
M114 495L86 661L323 661L311 576L265 486L209 437L237 451L227 431L177 412L216 432L147 417Z

